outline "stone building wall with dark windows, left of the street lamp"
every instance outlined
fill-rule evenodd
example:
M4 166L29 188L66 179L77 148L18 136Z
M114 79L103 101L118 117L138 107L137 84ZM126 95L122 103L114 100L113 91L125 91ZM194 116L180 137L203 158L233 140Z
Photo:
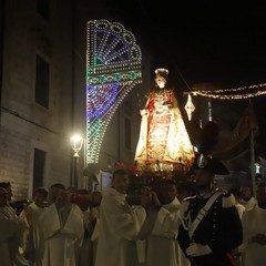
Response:
M0 181L17 200L70 183L71 17L69 0L1 1Z

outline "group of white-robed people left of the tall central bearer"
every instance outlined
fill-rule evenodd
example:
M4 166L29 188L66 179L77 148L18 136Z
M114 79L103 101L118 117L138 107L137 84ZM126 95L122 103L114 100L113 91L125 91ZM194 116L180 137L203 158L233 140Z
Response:
M0 182L1 266L92 265L102 193L72 188L37 187L21 209L11 201L11 184Z

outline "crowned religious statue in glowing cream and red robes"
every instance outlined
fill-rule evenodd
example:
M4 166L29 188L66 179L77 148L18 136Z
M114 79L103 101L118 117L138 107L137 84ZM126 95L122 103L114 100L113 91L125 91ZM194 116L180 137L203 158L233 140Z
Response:
M140 139L136 146L137 168L150 166L154 171L175 170L176 165L191 166L193 145L186 131L177 99L166 88L168 70L155 70L155 89L147 95L143 110Z

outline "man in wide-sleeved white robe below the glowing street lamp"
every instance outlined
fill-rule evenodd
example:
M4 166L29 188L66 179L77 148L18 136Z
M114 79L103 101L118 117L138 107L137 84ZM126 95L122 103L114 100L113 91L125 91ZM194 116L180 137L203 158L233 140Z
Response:
M59 193L39 217L44 238L43 266L78 266L84 236L81 209L70 203L65 191Z

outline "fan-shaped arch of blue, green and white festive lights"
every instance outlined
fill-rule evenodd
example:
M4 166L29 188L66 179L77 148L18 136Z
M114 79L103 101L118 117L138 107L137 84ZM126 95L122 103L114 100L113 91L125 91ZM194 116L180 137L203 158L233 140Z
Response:
M130 31L104 19L88 21L86 44L86 164L95 164L115 110L142 82L142 53Z

